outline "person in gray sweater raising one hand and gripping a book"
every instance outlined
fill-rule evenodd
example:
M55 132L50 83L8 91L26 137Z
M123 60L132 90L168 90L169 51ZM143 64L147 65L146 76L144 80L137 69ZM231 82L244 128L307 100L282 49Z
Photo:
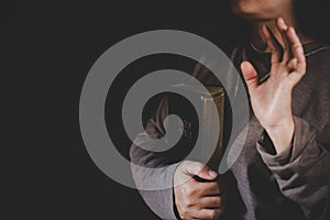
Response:
M296 4L231 1L233 13L253 26L250 42L230 54L245 80L253 116L243 150L227 174L131 146L132 163L164 167L147 176L134 167L136 183L175 186L140 190L162 219L330 219L330 47L300 31ZM196 78L212 82L200 65L196 69ZM165 134L168 102L162 99L135 143Z

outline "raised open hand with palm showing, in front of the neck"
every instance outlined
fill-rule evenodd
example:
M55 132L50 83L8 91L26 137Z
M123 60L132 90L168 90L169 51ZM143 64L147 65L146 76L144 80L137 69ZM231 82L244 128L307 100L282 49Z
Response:
M250 62L243 62L241 70L254 114L279 153L290 145L294 135L292 92L306 73L306 58L295 29L280 18L276 20L276 26L284 42L283 50L267 26L261 26L262 35L272 53L268 79L261 84Z

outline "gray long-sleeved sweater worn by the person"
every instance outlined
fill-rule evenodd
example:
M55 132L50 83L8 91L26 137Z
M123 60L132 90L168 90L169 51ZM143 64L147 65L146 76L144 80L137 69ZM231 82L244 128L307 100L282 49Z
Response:
M251 118L243 150L226 174L231 188L228 209L220 219L330 219L330 47L321 43L304 47L307 74L293 91L292 146L274 154L263 128L255 117ZM270 68L270 55L251 46L233 50L231 59L235 66L244 59L252 62L261 77ZM194 72L194 75L205 84L219 84L209 73ZM150 136L164 135L163 119L168 114L169 101L164 97L148 120L145 132ZM145 135L139 134L135 142L145 143ZM161 173L147 174L133 167L136 185L152 183L160 188L172 185L179 161L166 160L166 154L144 151L134 144L130 156L132 163L141 166L164 167ZM173 188L140 193L160 218L178 219Z

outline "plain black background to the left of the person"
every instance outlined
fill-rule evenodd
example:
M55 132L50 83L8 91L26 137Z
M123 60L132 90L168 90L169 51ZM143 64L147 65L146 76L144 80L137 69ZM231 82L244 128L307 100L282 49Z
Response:
M3 116L12 135L3 135L0 219L157 219L136 190L89 157L80 89L96 59L136 33L183 30L219 46L244 38L228 2L11 1L2 10Z

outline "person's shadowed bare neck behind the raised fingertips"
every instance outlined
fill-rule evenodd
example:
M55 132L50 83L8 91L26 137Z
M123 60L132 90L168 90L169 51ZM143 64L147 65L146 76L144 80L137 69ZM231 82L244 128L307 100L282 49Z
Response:
M295 22L295 20L293 18L283 18L285 20L285 22L295 28L295 30L297 31L297 34L300 38L301 44L307 44L312 42L314 40L304 35L301 32L299 32L299 30L297 29L297 23ZM274 36L276 37L276 40L278 41L278 43L284 46L284 42L282 40L282 35L279 33L279 31L276 28L275 24L275 20L270 20L270 21L257 21L253 23L253 32L252 32L252 38L251 38L251 44L257 48L258 51L262 52L270 52L270 48L267 48L266 43L261 34L261 25L265 24L268 26L268 29L273 32Z

